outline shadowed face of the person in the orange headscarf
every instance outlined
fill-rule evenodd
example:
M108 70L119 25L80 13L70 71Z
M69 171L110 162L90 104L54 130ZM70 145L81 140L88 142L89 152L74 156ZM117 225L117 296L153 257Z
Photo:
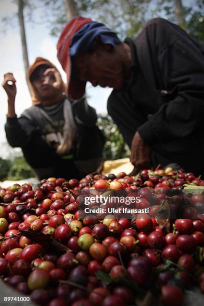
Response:
M42 98L51 97L56 92L56 89L52 86L55 82L55 77L50 75L48 77L44 76L44 71L48 68L50 67L46 65L37 67L31 74L30 78L35 90Z

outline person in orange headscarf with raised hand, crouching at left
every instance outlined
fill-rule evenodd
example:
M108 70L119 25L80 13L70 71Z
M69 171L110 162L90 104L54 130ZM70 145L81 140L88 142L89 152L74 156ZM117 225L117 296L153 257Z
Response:
M101 170L103 138L95 125L95 109L87 104L85 96L67 99L59 71L42 57L37 57L28 67L27 82L32 106L17 118L15 79L12 73L4 74L8 143L21 147L39 179L80 178Z

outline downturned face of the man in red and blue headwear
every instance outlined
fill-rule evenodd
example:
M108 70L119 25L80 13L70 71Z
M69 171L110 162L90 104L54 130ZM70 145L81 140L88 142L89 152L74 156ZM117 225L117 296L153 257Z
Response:
M123 66L110 45L100 44L94 51L76 56L73 60L76 77L90 81L93 86L121 89L124 75Z

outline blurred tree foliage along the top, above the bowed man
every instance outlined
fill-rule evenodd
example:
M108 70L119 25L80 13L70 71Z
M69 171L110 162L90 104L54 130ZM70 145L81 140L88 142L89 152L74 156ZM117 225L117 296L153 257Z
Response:
M80 15L107 24L120 39L124 39L125 36L134 37L150 18L163 17L177 23L172 0L74 0L74 2ZM58 36L67 22L64 1L41 0L40 3L47 8L47 17L43 18L50 25L51 35ZM182 1L182 6L185 18L182 27L195 39L204 42L204 0L195 0L193 3ZM50 11L52 14L48 16Z

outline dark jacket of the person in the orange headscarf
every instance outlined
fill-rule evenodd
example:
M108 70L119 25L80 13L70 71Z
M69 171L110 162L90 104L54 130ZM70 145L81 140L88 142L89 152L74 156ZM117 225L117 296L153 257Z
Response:
M39 128L38 122L40 120L38 107L41 106L31 106L19 118L7 118L5 133L12 147L21 147L25 159L39 178L51 175L65 178L77 177L74 160L102 156L104 139L96 126L96 112L85 99L72 103L76 137L71 152L67 152L71 153L67 154L69 156L59 156L43 140L42 128ZM63 120L63 113L61 119Z

